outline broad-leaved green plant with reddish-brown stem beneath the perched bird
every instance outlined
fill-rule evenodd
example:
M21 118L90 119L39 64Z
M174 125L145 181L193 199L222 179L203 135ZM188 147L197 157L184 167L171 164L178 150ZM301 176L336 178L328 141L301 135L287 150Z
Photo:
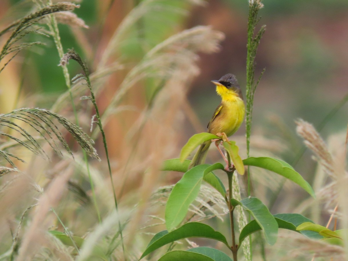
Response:
M224 167L221 163L215 164L203 164L193 167L187 171L190 160L185 158L196 148L201 142L211 139L220 139L223 143L223 147L229 155L229 166ZM161 231L156 234L150 241L148 247L142 254L141 258L148 255L157 248L179 240L189 237L205 237L218 240L224 243L232 252L233 260L237 260L237 251L239 250L242 242L247 236L253 234L256 231L263 231L266 242L273 245L277 239L278 228L284 228L296 231L296 227L304 222L311 222L306 217L300 214L277 214L272 215L268 208L256 197L247 197L242 200L236 200L232 197L232 176L236 175L235 171L244 173L245 166L256 166L273 171L279 175L286 177L287 179L300 185L311 196L315 197L314 191L311 186L305 181L302 176L297 173L290 165L282 160L269 158L269 157L249 157L243 161L238 155L238 147L235 142L224 141L222 137L212 135L210 133L200 133L193 135L187 144L182 148L180 159L167 160L164 163L162 170L164 171L179 171L184 172L181 180L175 184L166 204L166 227L167 230ZM232 165L233 163L233 165ZM213 171L222 170L228 176L228 190L224 187L222 181L216 176ZM211 185L216 191L221 194L226 201L229 217L231 223L231 240L232 244L229 244L227 239L217 231L206 224L198 222L188 222L178 227L187 215L188 208L193 200L197 197L202 182L205 181ZM235 234L235 218L234 211L236 206L242 206L242 208L248 211L254 220L249 222L245 227L240 228L240 235L237 241ZM304 233L306 234L306 233ZM315 237L316 235L310 235ZM187 260L195 256L195 260L211 260L206 259L204 256L212 258L217 253L224 256L224 254L213 248L193 248L189 252L183 253L183 251L172 251L165 254L160 260L169 260L169 258L182 258L187 254ZM175 253L173 253L175 252ZM203 256L202 256L203 255ZM220 260L220 259L213 259ZM231 260L228 257L223 260Z

